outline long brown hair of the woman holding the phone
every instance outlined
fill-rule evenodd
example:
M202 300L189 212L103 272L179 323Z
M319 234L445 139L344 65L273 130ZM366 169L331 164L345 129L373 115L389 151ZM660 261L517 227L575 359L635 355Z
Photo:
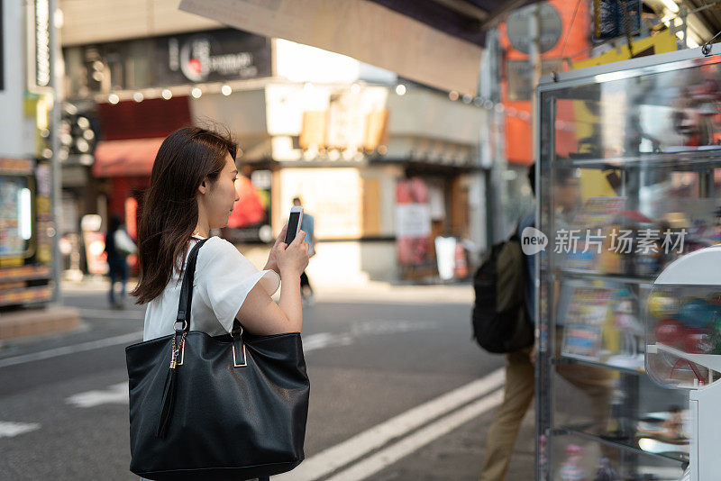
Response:
M230 153L235 159L236 150L227 130L198 127L179 129L160 145L138 227L140 277L131 293L137 304L162 294L173 269L182 270L178 259L185 259L187 241L197 225L197 188L206 177L214 182L223 171L225 156Z

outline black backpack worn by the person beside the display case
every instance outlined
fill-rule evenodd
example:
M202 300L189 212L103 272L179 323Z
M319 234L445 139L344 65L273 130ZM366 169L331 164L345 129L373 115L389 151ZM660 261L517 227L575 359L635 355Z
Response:
M518 232L488 252L473 278L473 338L489 352L524 349L534 343L525 310L527 271Z

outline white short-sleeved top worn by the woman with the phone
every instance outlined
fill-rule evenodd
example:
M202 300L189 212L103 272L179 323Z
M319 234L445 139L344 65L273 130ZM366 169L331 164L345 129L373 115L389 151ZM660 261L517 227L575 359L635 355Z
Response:
M200 238L202 239L202 238ZM192 238L188 254L199 238ZM187 257L183 261L183 266ZM142 340L167 336L174 332L182 279L178 272L161 295L148 303ZM197 256L193 282L193 304L190 310L190 331L204 331L211 336L227 334L245 297L260 282L269 295L280 286L280 277L272 270L259 271L228 241L209 238Z

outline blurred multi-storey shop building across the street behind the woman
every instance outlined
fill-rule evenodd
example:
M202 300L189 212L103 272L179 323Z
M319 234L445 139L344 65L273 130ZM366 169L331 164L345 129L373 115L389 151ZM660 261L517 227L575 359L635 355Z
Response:
M73 14L63 27L66 95L79 112L66 119L64 199L76 205L66 225L118 214L133 234L162 139L219 125L239 142L244 175L223 235L259 264L297 195L315 216L318 282L433 279L436 239L485 246L484 109L331 52L194 23L165 3L134 20L125 12L128 30L114 34L86 28L114 5L87 3L84 21ZM468 274L461 254L443 254L456 277Z

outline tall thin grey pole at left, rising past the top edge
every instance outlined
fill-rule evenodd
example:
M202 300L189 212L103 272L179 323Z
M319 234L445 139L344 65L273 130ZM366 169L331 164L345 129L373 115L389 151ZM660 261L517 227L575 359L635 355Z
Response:
M60 189L62 183L62 171L60 170L60 117L62 108L62 72L59 62L62 60L60 50L59 28L56 24L59 0L50 0L50 86L52 87L52 110L50 111L50 168L52 172L52 280L53 280L53 302L62 303L60 292L60 271L62 269L62 257L60 256Z

